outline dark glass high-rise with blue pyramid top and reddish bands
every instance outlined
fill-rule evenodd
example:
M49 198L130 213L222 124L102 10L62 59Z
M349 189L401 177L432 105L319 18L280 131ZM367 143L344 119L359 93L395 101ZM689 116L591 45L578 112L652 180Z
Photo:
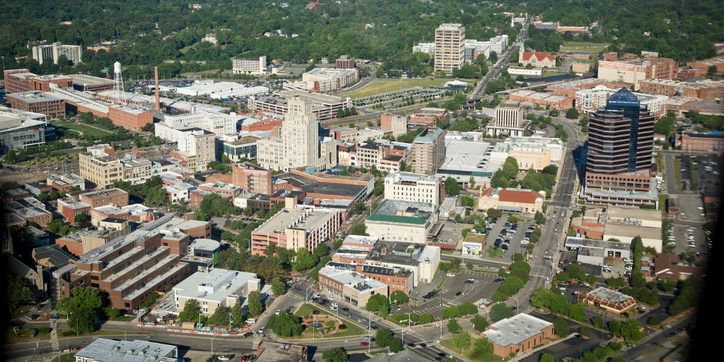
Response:
M654 115L626 88L589 121L586 188L649 191Z

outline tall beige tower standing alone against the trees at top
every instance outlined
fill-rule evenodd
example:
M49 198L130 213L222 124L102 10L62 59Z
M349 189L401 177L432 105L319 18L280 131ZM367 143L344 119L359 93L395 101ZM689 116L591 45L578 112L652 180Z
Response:
M465 28L442 24L435 29L435 72L451 74L465 64Z

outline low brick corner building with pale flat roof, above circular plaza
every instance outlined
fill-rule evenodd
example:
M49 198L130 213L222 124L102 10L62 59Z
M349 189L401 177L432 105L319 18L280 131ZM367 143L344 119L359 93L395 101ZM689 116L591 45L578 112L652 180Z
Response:
M372 295L382 294L385 297L390 294L388 288L382 282L358 274L355 271L335 269L325 266L319 269L319 287L323 292L334 295L353 306L365 306Z

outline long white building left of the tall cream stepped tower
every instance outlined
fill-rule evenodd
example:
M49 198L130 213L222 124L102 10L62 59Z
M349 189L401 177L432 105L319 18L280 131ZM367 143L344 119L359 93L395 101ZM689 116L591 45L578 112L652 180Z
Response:
M177 116L165 116L164 123L166 127L172 130L187 130L189 128L201 128L216 135L230 135L236 132L236 114L224 114L216 111L197 110L192 107L190 113L179 114ZM156 123L156 128L161 126ZM171 140L159 135L161 138Z

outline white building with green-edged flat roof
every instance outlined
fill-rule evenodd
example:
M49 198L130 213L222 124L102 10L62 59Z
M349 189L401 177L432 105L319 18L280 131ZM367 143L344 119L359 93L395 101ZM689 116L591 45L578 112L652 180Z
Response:
M385 199L365 222L367 233L380 240L424 243L437 223L432 203Z

